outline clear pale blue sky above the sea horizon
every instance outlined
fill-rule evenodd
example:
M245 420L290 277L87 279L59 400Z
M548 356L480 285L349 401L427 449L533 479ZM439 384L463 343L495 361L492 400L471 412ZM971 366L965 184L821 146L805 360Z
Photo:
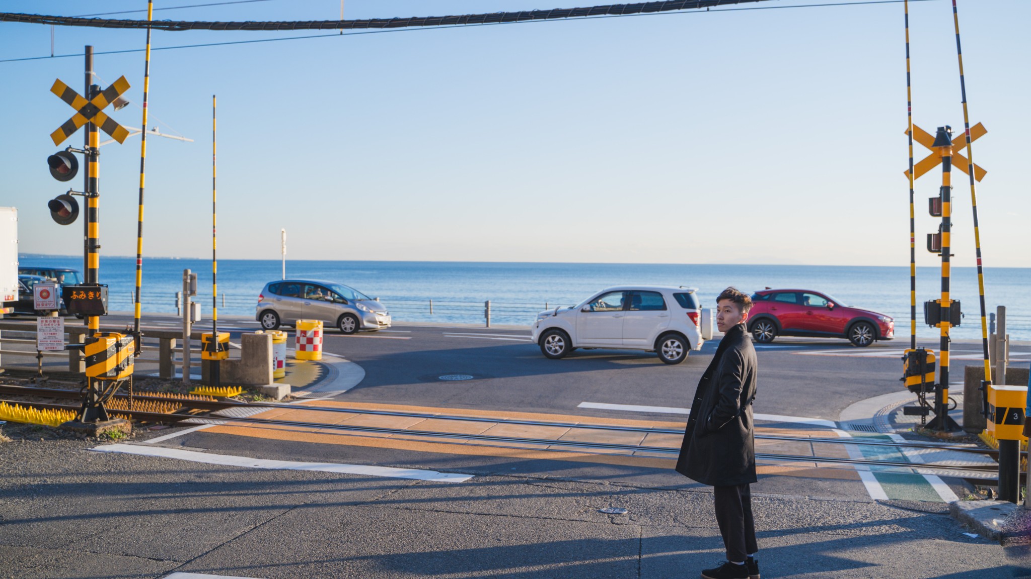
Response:
M157 7L198 4L156 2ZM826 1L826 0L825 0ZM811 4L772 0L753 6ZM346 18L590 5L584 0L346 0ZM10 0L75 15L143 0ZM334 20L337 0L156 12L169 20ZM109 18L145 18L145 13ZM960 0L987 266L1031 267L1027 105L1031 2ZM962 130L952 7L910 4L914 122ZM318 32L155 32L154 46ZM57 28L56 53L141 48L143 31ZM47 56L49 27L0 24L0 59ZM101 55L142 101L143 56ZM220 256L291 259L906 265L902 4L673 13L413 30L156 50L147 256L210 251L210 104L219 97ZM23 252L76 253L54 224L49 133L82 59L0 63L0 205ZM128 107L112 117L139 126ZM81 135L69 139L81 145ZM135 252L139 138L102 148L103 253ZM917 159L926 155L917 145ZM973 265L969 188L955 172L954 252ZM80 180L76 178L75 186ZM940 173L917 183L918 263Z

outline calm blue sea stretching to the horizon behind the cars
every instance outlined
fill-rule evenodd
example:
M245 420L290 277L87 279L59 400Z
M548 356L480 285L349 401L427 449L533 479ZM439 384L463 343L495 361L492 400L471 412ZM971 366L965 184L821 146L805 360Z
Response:
M81 257L26 254L23 266L82 269ZM277 260L219 261L219 312L254 315L258 293L281 277ZM210 260L154 258L143 261L142 309L174 312L182 270L198 274L204 317L211 312ZM937 330L923 323L923 302L940 297L940 268L917 270L918 335L932 338ZM484 302L491 301L492 323L532 323L536 312L574 305L609 285L641 283L698 288L703 307L733 285L743 292L765 287L814 290L842 303L895 318L897 339L909 334L909 268L852 266L761 266L678 264L556 264L467 262L288 261L287 276L338 281L379 300L399 321L484 322ZM108 284L112 311L131 311L135 286L134 258L101 258L100 282ZM1031 340L1031 308L1022 296L1031 287L1031 269L997 268L985 272L986 305L1007 307L1007 332L1013 340ZM954 338L980 338L977 274L953 268L952 298L962 303L965 318ZM433 313L430 313L430 300Z

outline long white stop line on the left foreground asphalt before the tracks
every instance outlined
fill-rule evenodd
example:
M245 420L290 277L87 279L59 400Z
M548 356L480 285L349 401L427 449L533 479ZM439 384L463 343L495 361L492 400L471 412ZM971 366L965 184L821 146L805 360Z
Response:
M271 461L267 458L252 458L251 456L234 456L232 454L209 454L207 452L197 452L194 450L182 450L179 448L165 448L162 446L137 446L134 444L105 444L91 448L95 452L119 452L125 454L139 454L143 456L161 456L165 458L178 458L192 463L203 463L206 465L223 465L232 467L245 467L251 469L273 469L288 471L318 471L324 473L341 473L353 475L379 476L388 478L405 478L414 480L430 480L434 482L464 482L472 478L472 475L440 473L437 471L424 471L420 469L396 469L393 467L372 467L368 465L343 465L337 463L299 463L295 461Z

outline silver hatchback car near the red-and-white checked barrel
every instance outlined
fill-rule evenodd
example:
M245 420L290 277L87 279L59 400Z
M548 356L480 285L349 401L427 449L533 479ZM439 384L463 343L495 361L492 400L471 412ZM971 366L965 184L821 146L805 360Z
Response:
M390 328L390 312L361 292L321 279L270 281L258 296L256 318L265 330L294 326L298 319L321 319L344 334Z

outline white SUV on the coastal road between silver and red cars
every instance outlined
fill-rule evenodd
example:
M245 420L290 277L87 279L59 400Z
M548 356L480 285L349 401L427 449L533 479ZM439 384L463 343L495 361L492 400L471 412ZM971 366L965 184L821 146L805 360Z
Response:
M533 341L547 357L576 348L655 351L679 364L702 347L701 309L693 287L609 287L578 305L537 314Z

